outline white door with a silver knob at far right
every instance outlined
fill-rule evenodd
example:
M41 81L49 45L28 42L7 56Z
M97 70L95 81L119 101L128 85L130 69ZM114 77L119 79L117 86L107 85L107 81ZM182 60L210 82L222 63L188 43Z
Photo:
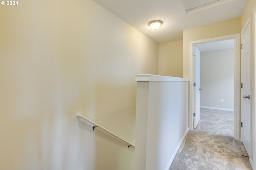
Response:
M241 141L250 155L250 22L243 30L241 36Z

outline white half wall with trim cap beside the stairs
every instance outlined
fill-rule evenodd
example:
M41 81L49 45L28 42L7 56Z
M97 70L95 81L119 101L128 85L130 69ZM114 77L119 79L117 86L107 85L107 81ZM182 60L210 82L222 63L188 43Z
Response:
M188 79L137 75L135 170L168 170L188 132Z

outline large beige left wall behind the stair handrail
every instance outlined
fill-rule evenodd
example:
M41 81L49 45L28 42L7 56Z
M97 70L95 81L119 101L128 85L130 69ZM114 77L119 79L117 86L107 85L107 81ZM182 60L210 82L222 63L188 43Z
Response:
M132 170L136 74L158 74L158 44L92 0L0 10L0 169Z

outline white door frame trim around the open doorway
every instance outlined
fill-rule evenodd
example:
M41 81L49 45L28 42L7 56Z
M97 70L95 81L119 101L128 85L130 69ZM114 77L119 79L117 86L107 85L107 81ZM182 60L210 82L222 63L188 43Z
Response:
M222 41L227 39L234 39L234 139L240 140L240 33L224 35L220 37L201 39L190 41L189 54L189 129L194 129L193 126L193 104L194 104L194 63L193 63L193 47L199 43L209 43L212 41Z

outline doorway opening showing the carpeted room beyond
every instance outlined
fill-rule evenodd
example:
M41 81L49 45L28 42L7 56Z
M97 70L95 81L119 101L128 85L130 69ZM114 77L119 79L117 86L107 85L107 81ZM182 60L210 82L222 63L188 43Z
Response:
M210 127L209 130L234 137L234 39L195 46L194 82L198 86L194 87L194 103L198 106L194 104L194 108L200 109L194 109L194 113L200 115L198 128ZM194 116L194 128L198 118Z

